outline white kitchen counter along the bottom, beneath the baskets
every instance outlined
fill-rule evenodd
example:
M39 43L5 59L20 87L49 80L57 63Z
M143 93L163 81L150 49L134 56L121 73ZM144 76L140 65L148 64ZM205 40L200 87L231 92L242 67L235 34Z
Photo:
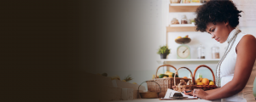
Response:
M133 99L133 100L113 100L104 102L229 102L220 100L206 100L206 99L182 99L182 100L160 100L160 99Z

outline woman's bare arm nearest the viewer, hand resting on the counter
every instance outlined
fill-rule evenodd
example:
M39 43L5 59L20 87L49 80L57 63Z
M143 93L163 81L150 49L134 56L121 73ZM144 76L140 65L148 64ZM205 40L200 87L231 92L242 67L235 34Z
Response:
M246 35L236 47L236 68L233 79L222 88L203 92L197 90L195 95L202 99L222 99L235 95L246 86L256 59L256 39L252 35Z

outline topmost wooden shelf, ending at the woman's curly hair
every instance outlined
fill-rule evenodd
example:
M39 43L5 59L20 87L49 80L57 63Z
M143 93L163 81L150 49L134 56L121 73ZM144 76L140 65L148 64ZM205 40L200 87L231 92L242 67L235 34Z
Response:
M195 12L202 3L170 3L169 12Z

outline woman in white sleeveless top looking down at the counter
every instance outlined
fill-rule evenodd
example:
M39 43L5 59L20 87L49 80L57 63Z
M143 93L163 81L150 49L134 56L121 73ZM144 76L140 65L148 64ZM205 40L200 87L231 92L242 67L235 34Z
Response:
M223 59L218 63L216 76L220 88L191 93L201 99L255 101L253 82L256 77L256 39L236 29L241 11L230 1L209 1L197 8L196 31L207 31L217 42L229 42Z

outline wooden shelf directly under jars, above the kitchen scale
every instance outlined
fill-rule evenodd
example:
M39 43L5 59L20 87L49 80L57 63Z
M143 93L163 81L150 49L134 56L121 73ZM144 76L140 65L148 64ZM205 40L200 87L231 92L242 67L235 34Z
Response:
M195 31L195 26L167 26L167 32L174 32L174 31Z

